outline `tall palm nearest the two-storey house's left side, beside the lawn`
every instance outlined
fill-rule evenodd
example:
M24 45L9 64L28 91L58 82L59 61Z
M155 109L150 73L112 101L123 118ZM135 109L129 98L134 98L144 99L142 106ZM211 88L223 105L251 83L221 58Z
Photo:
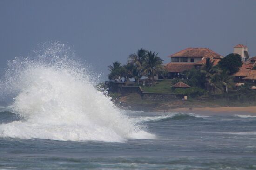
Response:
M149 83L151 82L152 78L152 84L154 84L154 75L163 69L163 60L157 55L158 53L155 54L155 52L149 51L143 63L143 72L148 76Z

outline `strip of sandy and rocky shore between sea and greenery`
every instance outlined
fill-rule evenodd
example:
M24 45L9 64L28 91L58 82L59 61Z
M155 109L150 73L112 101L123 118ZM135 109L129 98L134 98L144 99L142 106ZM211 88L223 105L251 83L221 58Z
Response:
M142 100L141 96L137 93L129 93L118 97L115 104L121 108L143 110L146 112L188 112L215 115L238 113L241 115L256 115L256 102L241 103L239 101L226 101L225 99L150 101Z

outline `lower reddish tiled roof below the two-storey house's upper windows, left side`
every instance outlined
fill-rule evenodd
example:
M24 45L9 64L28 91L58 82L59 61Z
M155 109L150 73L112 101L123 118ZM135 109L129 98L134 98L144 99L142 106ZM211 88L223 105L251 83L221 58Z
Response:
M168 63L165 65L165 68L168 72L173 73L181 73L185 70L192 69L194 66L194 63Z

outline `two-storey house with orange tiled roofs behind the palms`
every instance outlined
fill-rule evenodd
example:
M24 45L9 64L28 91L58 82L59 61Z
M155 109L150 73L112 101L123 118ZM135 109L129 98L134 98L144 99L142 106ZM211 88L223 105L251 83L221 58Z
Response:
M186 48L170 56L171 62L165 67L168 71L168 78L182 77L182 72L205 64L209 57L216 65L222 56L208 48Z

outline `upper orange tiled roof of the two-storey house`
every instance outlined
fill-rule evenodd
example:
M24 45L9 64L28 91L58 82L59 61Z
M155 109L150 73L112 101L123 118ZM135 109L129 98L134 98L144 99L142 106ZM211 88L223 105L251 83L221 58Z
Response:
M221 55L210 50L208 48L186 48L168 57L193 57L193 58L203 58L203 57L214 57L220 58Z

